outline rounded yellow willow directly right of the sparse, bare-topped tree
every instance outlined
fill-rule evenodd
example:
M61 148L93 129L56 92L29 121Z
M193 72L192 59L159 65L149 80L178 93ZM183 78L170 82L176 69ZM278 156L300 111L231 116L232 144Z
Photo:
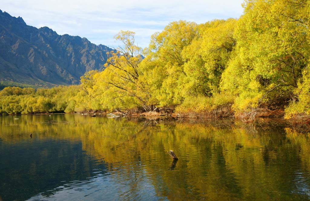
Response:
M197 37L197 24L177 21L154 33L143 61L144 80L160 106L175 106L184 99L184 47Z

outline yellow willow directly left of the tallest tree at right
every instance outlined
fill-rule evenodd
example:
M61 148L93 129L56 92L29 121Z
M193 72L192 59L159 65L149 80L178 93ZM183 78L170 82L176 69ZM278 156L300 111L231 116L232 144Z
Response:
M236 45L235 19L212 20L199 26L199 37L184 48L184 89L187 95L211 96L219 92L222 72Z

